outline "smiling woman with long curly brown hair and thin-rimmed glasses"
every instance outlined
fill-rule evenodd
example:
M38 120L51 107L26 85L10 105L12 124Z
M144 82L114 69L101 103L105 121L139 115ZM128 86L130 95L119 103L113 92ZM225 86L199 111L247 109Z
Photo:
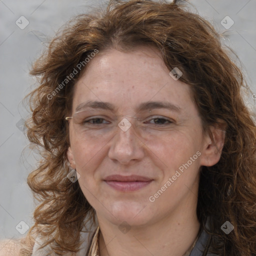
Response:
M31 71L40 204L15 254L255 255L256 128L218 35L176 1L99 14Z

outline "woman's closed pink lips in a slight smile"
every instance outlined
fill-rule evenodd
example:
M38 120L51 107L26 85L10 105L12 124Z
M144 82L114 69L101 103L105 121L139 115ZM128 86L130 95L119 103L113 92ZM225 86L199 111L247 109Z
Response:
M104 178L104 182L106 182L112 188L119 190L119 191L134 191L138 190L149 183L151 183L153 179L145 177L145 176L138 176L138 175L110 175Z

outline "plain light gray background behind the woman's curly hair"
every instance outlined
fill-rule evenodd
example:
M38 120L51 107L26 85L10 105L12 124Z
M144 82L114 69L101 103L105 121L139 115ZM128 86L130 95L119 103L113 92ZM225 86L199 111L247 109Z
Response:
M31 62L39 56L45 41L70 17L87 12L99 0L0 0L0 239L19 238L25 224L31 226L34 208L26 184L35 167L35 155L23 150L28 141L22 131L27 115L22 98L34 86L28 75ZM256 0L192 0L201 16L223 33L223 45L239 56L252 90L246 101L254 111L256 99ZM194 11L194 10L193 10ZM226 29L220 21L229 16L234 24ZM24 16L29 24L25 24ZM16 20L19 26L16 25ZM224 22L229 22L228 20ZM253 99L254 98L254 99ZM22 153L23 150L23 153ZM18 224L18 226L17 226ZM17 229L15 228L17 226ZM19 227L19 228L18 228Z

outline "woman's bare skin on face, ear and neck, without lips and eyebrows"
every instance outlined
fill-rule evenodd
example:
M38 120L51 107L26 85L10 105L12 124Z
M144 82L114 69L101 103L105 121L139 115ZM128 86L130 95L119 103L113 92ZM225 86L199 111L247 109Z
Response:
M174 80L169 71L153 48L108 49L90 60L75 85L71 115L80 103L97 100L112 103L115 110L98 109L95 115L108 120L118 116L116 123L125 117L131 123L127 131L118 126L108 129L109 124L81 131L69 121L67 157L96 211L101 256L181 256L197 236L199 168L219 160L224 132L210 127L214 140L203 132L189 86ZM145 101L168 101L180 111L150 108L137 112L137 106ZM129 117L134 115L141 121ZM172 123L155 124L155 116ZM150 122L143 123L147 119ZM155 201L149 201L197 151L200 156ZM111 174L137 174L152 182L139 190L117 191L103 181ZM123 221L130 227L126 233L118 228Z

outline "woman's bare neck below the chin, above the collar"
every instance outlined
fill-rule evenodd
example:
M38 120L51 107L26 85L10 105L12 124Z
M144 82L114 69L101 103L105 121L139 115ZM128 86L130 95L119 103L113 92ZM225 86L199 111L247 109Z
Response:
M118 225L97 217L100 256L183 256L192 249L200 227L193 199L154 223L132 226L125 234Z

